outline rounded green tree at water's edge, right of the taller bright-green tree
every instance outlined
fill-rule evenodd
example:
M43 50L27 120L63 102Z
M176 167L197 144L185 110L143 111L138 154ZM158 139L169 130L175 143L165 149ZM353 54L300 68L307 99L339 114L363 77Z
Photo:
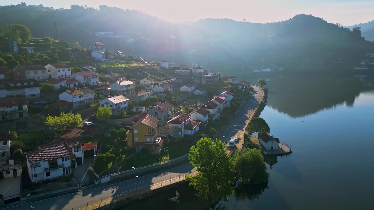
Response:
M244 184L258 185L269 181L264 155L258 149L237 150L234 164Z

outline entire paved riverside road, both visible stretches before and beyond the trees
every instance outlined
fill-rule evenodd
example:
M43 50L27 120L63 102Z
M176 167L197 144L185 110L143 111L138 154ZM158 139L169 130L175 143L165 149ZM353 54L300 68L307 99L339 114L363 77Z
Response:
M239 113L239 115L235 118L233 123L226 129L220 139L228 140L230 138L235 137L237 132L241 131L245 121L248 119L249 115L253 111L253 108L257 104L258 100L261 98L261 91L258 87L254 86L254 97L249 101L249 103L243 108L243 110ZM241 145L241 142L237 144L238 146ZM181 166L174 167L172 169L168 169L162 172L157 172L151 175L138 177L137 187L148 186L153 183L161 182L162 180L168 180L170 178L175 178L180 175L184 175L187 172L191 173L194 172L194 167L191 163L186 163ZM88 186L90 187L90 186ZM123 192L127 192L128 190L135 189L135 179L125 180L122 182L118 182L115 184L109 184L105 186L98 185L97 188L86 188L80 192L70 193L67 195L61 195L58 197L47 198L40 201L34 201L30 203L24 204L7 204L5 206L1 206L0 209L7 209L7 210L28 210L30 209L30 205L34 207L34 210L39 209L49 209L49 210L73 210L78 209L80 207L86 206L88 204L95 203L100 201L101 198L109 198L114 196L114 194L122 194ZM25 201L23 201L25 202Z

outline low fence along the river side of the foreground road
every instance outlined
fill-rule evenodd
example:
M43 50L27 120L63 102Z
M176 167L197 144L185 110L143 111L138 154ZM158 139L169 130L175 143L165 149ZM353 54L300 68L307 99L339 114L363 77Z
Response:
M102 198L101 198L101 200L99 200L99 201L93 202L91 204L87 203L87 206L81 207L81 208L76 209L76 210L93 210L93 209L96 209L96 208L99 208L99 207L110 205L112 203L117 203L118 201L124 201L128 198L131 198L131 197L134 197L134 196L137 196L137 195L141 195L141 194L144 194L146 192L150 192L152 190L159 189L159 188L162 188L162 187L165 187L165 186L168 186L168 185L172 185L174 183L184 181L184 180L186 180L185 175L196 176L197 171L194 171L194 172L191 172L191 173L186 173L186 174L183 174L183 175L179 175L178 177L175 177L173 179L170 177L168 180L161 181L159 183L155 183L153 185L148 185L148 186L141 187L141 188L139 187L138 189L133 189L131 191L127 191L123 194L120 194L120 195L117 195L117 196L114 196L114 197L110 197L110 198L107 198L107 199L104 199L104 200L102 200Z

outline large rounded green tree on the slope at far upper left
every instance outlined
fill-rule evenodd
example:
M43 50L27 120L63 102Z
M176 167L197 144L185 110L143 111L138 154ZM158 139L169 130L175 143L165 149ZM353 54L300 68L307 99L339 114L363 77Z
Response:
M1 31L4 38L18 42L26 42L31 36L31 31L21 24L5 25L1 28Z

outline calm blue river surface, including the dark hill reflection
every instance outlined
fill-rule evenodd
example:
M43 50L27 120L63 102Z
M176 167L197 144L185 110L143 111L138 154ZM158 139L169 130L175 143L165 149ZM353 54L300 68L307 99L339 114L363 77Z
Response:
M231 209L374 209L374 83L275 78L261 112L271 134L291 145L272 164L259 199Z

